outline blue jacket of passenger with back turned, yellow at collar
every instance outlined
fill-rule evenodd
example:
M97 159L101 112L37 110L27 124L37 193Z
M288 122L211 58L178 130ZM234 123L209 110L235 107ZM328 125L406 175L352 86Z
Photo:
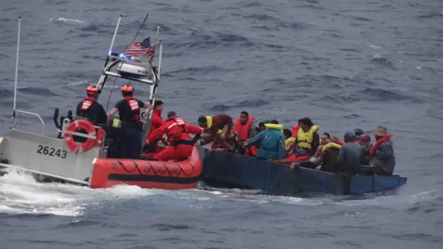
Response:
M260 147L257 149L257 158L278 160L284 158L284 136L281 131L266 129L253 136L248 142L245 142L244 147L248 148L259 144Z

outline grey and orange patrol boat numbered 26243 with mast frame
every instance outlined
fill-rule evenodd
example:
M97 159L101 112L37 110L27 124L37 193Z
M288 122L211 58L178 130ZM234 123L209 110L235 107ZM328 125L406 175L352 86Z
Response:
M152 57L147 63L134 56L120 55L112 50L120 25L118 19L109 54L100 80L99 93L109 77L131 80L150 88L150 100L154 102L161 79L161 58L163 46L156 36L152 37ZM59 136L44 135L45 123L37 113L16 109L17 70L19 55L20 19L17 39L17 62L14 88L14 125L5 136L0 137L0 167L23 170L37 176L41 181L62 181L86 185L91 188L111 187L119 184L168 190L195 188L201 175L201 158L194 147L192 156L179 162L158 160L133 160L113 158L111 131L116 129L94 126L87 120L73 120L71 112L57 122L59 110L55 109L54 121ZM159 53L154 59L154 53ZM20 127L24 115L35 116L42 123L42 133L31 133ZM142 141L145 142L150 129L152 110L146 111L143 122ZM87 133L80 133L86 130ZM110 135L110 138L107 136ZM77 142L78 137L85 140Z

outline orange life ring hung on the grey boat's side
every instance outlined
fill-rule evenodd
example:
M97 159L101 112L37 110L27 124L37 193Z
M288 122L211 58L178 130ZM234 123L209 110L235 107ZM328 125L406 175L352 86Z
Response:
M71 132L76 132L80 129L85 129L89 136L96 136L96 128L94 128L93 124L87 120L75 120L74 122L71 122L68 127L66 127L66 131ZM75 151L75 153L89 151L89 149L92 149L92 147L96 145L96 139L93 138L88 138L83 143L75 142L73 134L69 133L64 134L64 141L66 142L66 145L68 145L69 149L71 149L71 151Z

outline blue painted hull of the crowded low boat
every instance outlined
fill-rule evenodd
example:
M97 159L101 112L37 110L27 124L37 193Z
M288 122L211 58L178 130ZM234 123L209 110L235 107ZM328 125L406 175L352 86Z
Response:
M203 180L211 187L257 189L280 194L322 192L325 194L363 194L390 190L407 178L392 176L349 176L315 169L269 163L239 154L212 151L204 156Z

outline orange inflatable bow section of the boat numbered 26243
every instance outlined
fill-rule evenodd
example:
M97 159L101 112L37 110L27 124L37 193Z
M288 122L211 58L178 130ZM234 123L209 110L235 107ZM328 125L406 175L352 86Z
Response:
M136 185L143 188L183 190L197 187L202 160L194 147L188 160L161 162L101 158L93 164L91 188Z

